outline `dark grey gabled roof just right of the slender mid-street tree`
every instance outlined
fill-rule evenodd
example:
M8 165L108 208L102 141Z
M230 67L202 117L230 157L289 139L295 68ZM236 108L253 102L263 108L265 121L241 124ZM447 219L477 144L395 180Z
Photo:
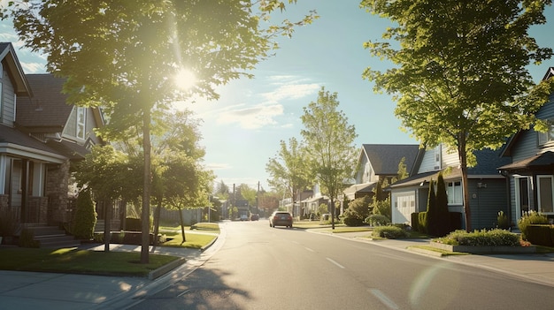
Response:
M367 156L376 175L396 175L398 163L405 158L406 170L412 171L419 159L417 144L363 144L361 156Z

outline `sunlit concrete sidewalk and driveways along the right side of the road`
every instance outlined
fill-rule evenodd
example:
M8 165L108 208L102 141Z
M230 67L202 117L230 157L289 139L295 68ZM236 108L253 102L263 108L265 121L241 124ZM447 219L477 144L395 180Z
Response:
M506 275L525 279L529 282L545 284L554 287L554 253L535 254L494 254L494 255L449 255L439 257L435 252L408 249L410 246L426 246L430 239L380 239L363 238L365 232L344 232L332 234L338 238L349 238L366 242L375 246L384 246L400 251L427 255L437 260L450 261L476 268L485 268Z

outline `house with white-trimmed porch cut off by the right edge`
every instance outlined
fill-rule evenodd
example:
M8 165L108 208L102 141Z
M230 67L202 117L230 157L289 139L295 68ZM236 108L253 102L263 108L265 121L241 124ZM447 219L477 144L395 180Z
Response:
M554 67L550 67L543 79L553 76ZM512 223L518 223L528 211L540 212L554 220L554 94L535 116L548 121L549 131L531 128L514 134L502 153L511 157L512 163L498 168L510 185L508 214Z

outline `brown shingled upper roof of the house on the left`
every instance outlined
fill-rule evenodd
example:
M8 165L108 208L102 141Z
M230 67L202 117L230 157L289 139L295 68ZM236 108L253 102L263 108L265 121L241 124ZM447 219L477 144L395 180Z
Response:
M16 121L32 132L61 132L73 110L73 105L66 103L67 95L62 94L65 79L27 74L27 80L34 96L18 98Z

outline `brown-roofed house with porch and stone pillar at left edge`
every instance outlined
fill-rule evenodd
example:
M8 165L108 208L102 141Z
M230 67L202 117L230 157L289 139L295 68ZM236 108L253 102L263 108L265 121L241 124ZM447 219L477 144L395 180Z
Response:
M0 208L20 223L71 220L71 164L103 143L99 110L68 105L64 79L24 74L11 43L0 43Z

